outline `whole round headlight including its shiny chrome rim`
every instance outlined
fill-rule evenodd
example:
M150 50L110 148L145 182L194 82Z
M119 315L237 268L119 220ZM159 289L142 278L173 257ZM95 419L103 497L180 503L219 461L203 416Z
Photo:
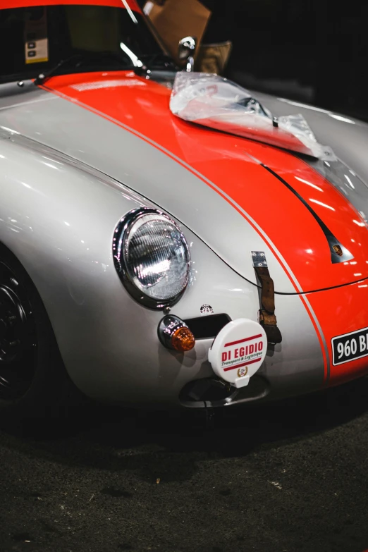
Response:
M135 209L124 216L113 252L125 287L147 307L173 304L188 285L188 243L178 225L156 209Z

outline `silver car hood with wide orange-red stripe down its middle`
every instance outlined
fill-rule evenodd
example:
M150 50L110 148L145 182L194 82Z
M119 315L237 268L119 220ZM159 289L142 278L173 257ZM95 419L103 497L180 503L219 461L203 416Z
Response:
M1 109L0 125L128 185L252 283L254 250L266 253L278 293L368 277L367 227L351 194L293 154L180 120L169 97L133 72L63 75Z

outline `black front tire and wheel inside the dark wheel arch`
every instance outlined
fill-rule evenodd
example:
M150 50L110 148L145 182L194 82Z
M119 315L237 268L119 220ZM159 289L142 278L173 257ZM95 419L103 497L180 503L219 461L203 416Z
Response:
M18 259L0 245L0 425L51 431L81 393L70 380L42 299Z

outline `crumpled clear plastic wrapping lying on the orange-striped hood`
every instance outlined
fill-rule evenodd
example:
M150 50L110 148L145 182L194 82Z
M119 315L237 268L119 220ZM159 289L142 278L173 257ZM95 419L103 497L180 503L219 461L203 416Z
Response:
M317 142L302 115L273 117L245 88L219 75L176 73L170 109L198 125L318 159L336 159L330 147Z

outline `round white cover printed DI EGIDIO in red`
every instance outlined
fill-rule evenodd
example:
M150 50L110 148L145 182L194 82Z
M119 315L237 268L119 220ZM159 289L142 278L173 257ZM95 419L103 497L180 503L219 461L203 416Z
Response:
M215 374L235 387L249 383L261 367L267 350L262 326L247 318L232 320L217 334L208 360Z

